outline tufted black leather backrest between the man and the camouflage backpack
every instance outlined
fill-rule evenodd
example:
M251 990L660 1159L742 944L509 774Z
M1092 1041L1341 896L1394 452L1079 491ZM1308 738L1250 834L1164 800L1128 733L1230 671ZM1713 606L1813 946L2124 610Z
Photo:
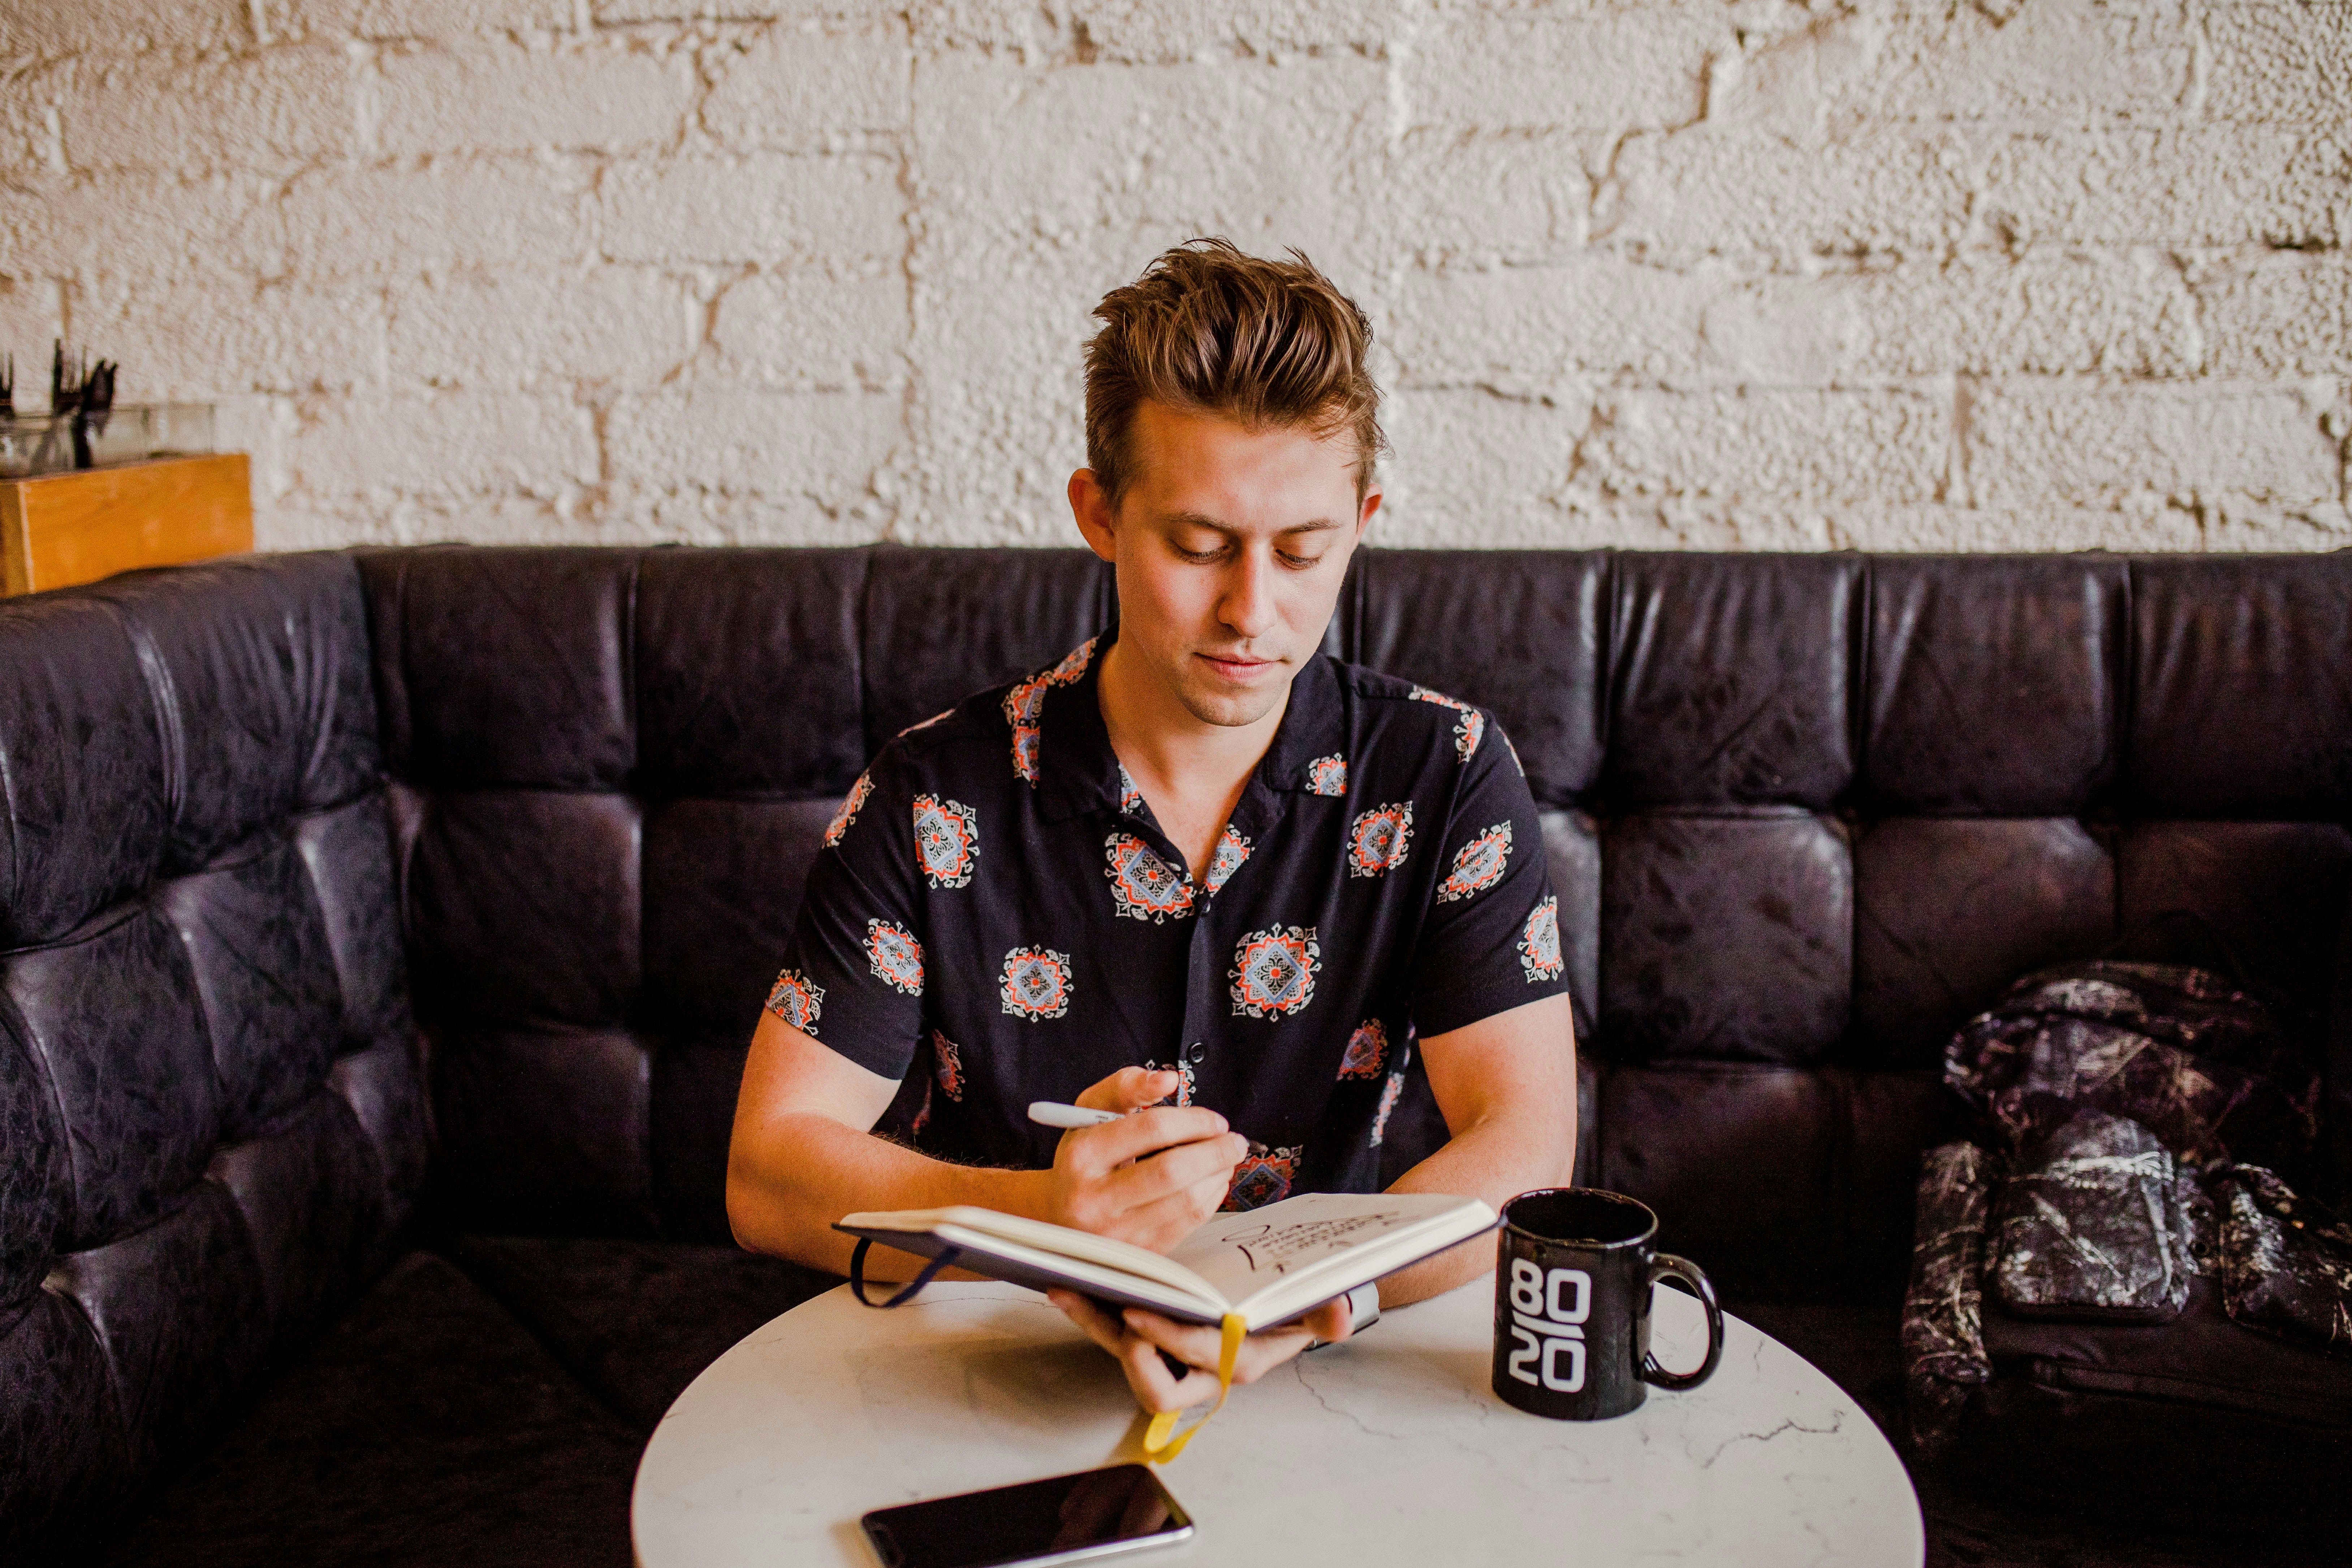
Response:
M1581 1178L1750 1295L1900 1286L1938 1051L2018 973L2190 910L2326 1001L2352 557L1367 552L1343 621L1576 809Z

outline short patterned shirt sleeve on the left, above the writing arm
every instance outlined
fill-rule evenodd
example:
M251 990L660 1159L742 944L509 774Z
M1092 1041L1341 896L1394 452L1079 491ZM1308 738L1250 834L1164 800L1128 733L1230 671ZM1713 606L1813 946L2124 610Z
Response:
M884 748L842 799L767 1011L858 1067L906 1077L922 1037L924 926L915 889L913 780Z

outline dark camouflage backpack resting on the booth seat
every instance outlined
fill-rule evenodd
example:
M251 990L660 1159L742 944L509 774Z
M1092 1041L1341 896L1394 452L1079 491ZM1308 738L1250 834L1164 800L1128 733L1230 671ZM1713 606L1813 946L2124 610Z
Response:
M2352 1359L2352 1227L2281 1175L2317 1157L2312 1060L2185 966L2049 969L1969 1020L1945 1079L1985 1131L1924 1159L1903 1314L1922 1448L2034 1401L2307 1420L2352 1399L2310 1361Z

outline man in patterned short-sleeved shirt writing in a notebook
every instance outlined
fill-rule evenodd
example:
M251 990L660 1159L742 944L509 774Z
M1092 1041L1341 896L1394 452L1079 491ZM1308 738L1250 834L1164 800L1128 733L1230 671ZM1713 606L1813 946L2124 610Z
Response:
M1317 651L1381 508L1364 315L1303 256L1209 240L1096 317L1070 510L1117 625L906 731L842 802L743 1070L750 1248L842 1272L844 1213L981 1204L1167 1251L1218 1206L1369 1192L1416 1048L1449 1140L1397 1190L1569 1180L1576 1046L1517 757L1482 710ZM868 1131L910 1070L915 1147ZM1134 1114L1056 1138L1030 1100ZM1461 1246L1378 1302L1491 1267L1491 1239ZM1145 1408L1216 1392L1214 1328L1054 1300ZM1251 1335L1235 1380L1357 1307Z

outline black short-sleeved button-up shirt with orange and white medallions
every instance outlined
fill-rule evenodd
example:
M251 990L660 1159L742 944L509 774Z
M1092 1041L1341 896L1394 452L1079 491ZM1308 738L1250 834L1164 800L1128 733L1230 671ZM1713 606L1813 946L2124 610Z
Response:
M1228 1208L1374 1192L1414 1041L1566 990L1517 755L1479 708L1317 656L1195 884L1103 729L1112 635L882 748L767 1006L922 1072L908 1131L943 1159L1047 1166L1030 1100L1143 1065L1268 1147Z

